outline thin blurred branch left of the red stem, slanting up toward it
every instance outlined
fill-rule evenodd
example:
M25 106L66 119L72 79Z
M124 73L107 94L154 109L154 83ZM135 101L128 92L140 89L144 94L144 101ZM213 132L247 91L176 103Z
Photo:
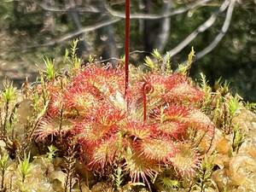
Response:
M66 35L62 36L61 38L58 39L53 39L50 40L48 43L45 44L38 44L38 45L32 45L32 46L28 46L25 49L32 49L32 48L37 48L37 47L47 47L47 46L52 46L55 44L61 44L64 41L67 41L70 38L74 38L84 32L92 32L95 31L96 29L99 29L103 26L108 26L111 25L113 23L118 22L121 19L114 19L114 20L107 20L107 21L102 21L100 23L97 23L96 25L93 26L85 26L85 27L81 27L79 30L75 31L75 32L69 32Z

